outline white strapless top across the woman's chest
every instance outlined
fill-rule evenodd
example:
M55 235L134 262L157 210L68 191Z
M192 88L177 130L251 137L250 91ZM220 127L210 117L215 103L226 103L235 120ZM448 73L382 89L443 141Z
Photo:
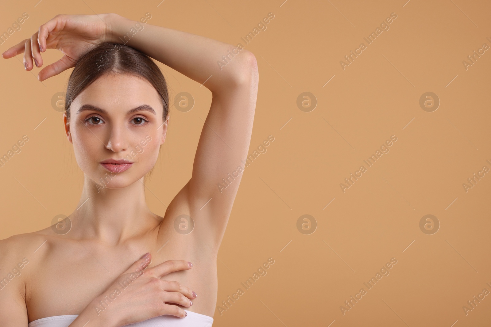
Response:
M151 318L141 323L130 324L128 327L211 327L213 318L185 310L188 315L179 318L170 315ZM27 327L68 327L78 315L65 315L41 318L27 324Z

